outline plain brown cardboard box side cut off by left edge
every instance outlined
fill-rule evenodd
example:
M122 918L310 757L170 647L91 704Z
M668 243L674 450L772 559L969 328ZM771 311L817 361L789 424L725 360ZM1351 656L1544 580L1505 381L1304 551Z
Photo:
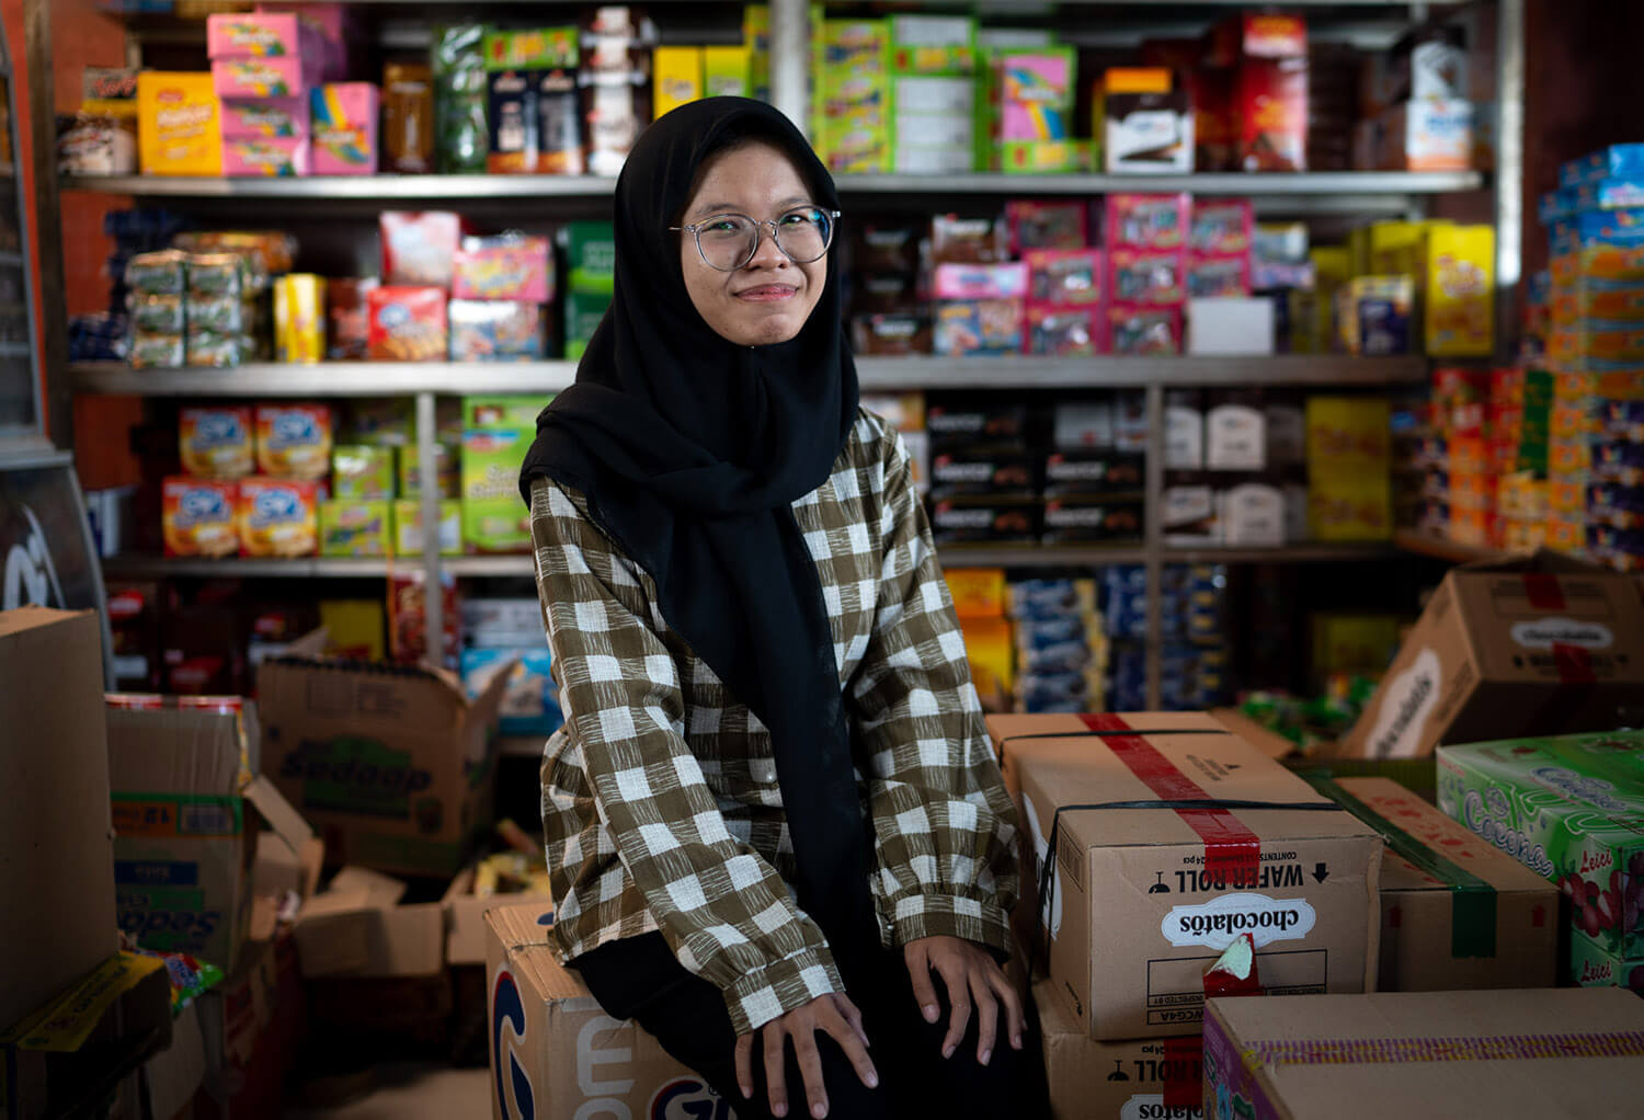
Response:
M95 612L0 612L0 681L5 1030L120 947Z

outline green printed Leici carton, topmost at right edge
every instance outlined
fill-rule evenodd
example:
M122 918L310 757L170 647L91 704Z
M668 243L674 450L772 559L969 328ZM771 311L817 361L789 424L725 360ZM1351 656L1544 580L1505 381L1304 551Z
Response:
M1438 808L1555 882L1600 949L1644 957L1644 732L1440 747Z

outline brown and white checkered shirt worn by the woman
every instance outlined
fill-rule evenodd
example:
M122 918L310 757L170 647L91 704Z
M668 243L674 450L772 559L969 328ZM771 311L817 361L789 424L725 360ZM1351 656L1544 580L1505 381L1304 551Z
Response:
M834 474L792 508L868 763L857 784L884 946L952 934L1008 951L1016 812L901 436L863 411ZM794 901L766 727L667 627L654 582L580 493L538 479L531 538L566 712L543 760L561 957L661 929L725 993L738 1033L843 990Z

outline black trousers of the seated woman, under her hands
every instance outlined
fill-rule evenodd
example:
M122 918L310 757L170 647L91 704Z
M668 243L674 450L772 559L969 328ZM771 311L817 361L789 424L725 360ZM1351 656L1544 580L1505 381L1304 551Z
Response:
M676 1059L694 1069L725 1100L738 1120L766 1120L771 1100L764 1084L764 1051L753 1049L753 1100L737 1087L737 1033L717 987L687 972L674 959L663 934L612 941L575 960L589 992L612 1018L636 1020ZM827 1034L817 1033L822 1074L827 1085L830 1120L889 1120L891 1117L1049 1117L1037 1015L1029 1002L1023 1049L1009 1044L1003 1007L993 1044L993 1059L977 1062L977 1013L972 1010L965 1041L952 1058L942 1058L947 1034L947 985L939 975L932 987L942 1003L937 1021L926 1023L914 1000L912 983L901 951L876 951L876 983L866 992L847 992L861 1008L868 1033L868 1056L880 1074L880 1087L868 1089L857 1077L845 1051ZM787 1117L810 1115L806 1082L794 1049L787 1046Z

